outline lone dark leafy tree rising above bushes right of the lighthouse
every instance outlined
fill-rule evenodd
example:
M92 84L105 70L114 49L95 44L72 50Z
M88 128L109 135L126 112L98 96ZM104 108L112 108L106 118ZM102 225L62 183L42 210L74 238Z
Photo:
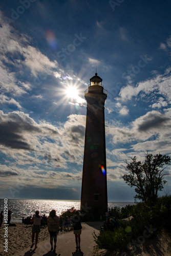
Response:
M163 189L163 185L167 182L164 180L164 176L168 175L164 173L163 167L166 164L170 164L170 157L165 155L152 154L145 155L145 161L137 161L136 156L131 158L132 162L127 163L126 168L129 169L130 174L124 174L121 178L131 187L135 186L135 192L137 195L135 199L140 199L143 202L155 202L158 197L158 191Z

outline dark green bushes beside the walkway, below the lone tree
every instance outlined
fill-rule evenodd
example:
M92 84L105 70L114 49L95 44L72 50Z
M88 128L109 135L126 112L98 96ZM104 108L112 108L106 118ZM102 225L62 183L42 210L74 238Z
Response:
M147 237L151 237L152 234L155 235L155 232L160 232L163 229L170 232L171 196L158 198L154 205L139 202L122 208L110 208L109 214L119 220L131 216L134 217L127 224L120 222L120 227L114 229L114 232L100 231L98 236L95 233L93 234L95 242L100 249L112 251L113 255L117 255L123 251L128 251L132 241L136 241L137 244L140 243L137 240L140 235L142 235L141 239L143 239L144 234L145 241L148 239Z

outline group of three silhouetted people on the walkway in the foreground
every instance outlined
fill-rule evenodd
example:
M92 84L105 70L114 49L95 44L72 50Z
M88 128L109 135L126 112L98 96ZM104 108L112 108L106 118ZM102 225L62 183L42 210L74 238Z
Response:
M42 217L39 215L39 211L37 210L35 214L33 215L30 222L33 222L32 227L32 245L30 248L33 248L34 246L34 239L35 239L35 248L37 248L37 241L38 241L38 234L40 232L40 224L41 224ZM56 216L56 211L51 210L50 214L47 218L47 224L48 224L48 231L50 234L50 245L51 245L51 251L56 249L56 243L57 243L57 234L59 233L59 230L62 231L62 225L60 222L60 219L58 216ZM79 211L74 212L74 216L72 218L72 226L75 234L75 242L76 242L76 249L80 249L80 235L81 235L81 216L79 214ZM54 247L53 247L54 244Z

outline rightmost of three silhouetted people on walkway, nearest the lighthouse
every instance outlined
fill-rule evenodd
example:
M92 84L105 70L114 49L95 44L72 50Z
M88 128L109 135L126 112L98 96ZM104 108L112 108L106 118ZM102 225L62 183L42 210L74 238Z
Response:
M78 210L74 212L72 223L73 223L73 229L75 234L76 249L80 249L80 241L81 241L80 235L81 235L82 226L81 226L81 216Z

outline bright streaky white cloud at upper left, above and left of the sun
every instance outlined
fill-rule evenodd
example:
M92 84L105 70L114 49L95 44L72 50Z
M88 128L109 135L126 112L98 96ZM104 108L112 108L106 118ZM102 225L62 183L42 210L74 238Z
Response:
M32 88L32 84L26 81L26 76L30 78L40 74L45 77L53 74L58 64L56 60L51 61L38 49L29 45L31 38L26 34L19 34L15 28L5 23L2 12L0 12L0 19L1 90L12 96L21 96Z

